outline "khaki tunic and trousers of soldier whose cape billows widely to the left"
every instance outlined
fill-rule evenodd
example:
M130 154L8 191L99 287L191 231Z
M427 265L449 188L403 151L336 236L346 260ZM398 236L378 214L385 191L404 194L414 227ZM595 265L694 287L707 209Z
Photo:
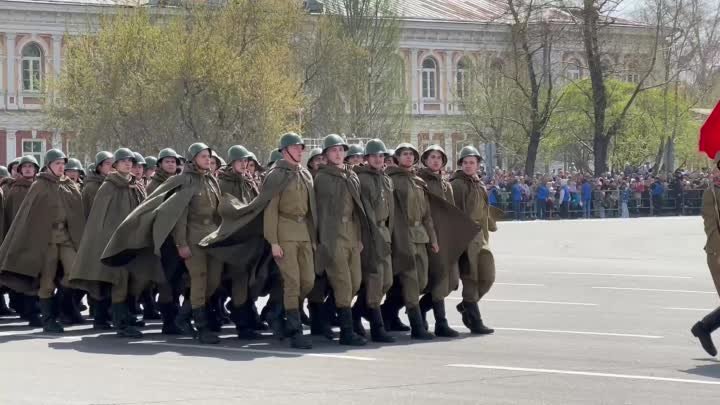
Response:
M178 247L188 246L192 254L185 260L185 266L190 274L190 304L193 309L206 305L220 285L223 271L222 262L198 246L220 224L217 211L220 190L217 181L209 174L201 175L200 178L202 186L190 199L190 204L180 215L172 233L175 244Z

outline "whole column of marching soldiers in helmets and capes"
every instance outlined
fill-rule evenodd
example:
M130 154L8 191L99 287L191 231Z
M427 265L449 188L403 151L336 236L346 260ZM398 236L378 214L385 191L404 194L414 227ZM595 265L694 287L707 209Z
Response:
M362 346L393 342L394 331L459 336L445 300L462 280L463 323L493 333L479 302L495 278L498 213L474 147L449 176L437 145L420 154L331 134L306 166L304 152L287 133L265 167L241 145L226 164L203 143L184 157L101 151L87 171L55 149L42 168L32 156L0 167L0 291L12 308L0 296L0 315L62 333L84 322L87 296L93 328L121 337L142 337L144 321L159 318L163 334L215 344L229 318L240 339L271 329L310 349L312 335L334 339L339 326L340 344Z

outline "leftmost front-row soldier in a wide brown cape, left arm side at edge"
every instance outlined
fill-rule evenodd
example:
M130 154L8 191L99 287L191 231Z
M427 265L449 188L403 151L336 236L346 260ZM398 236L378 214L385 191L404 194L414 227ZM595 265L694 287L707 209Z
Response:
M80 190L63 174L65 154L51 149L45 162L46 171L30 187L0 247L0 283L23 294L37 294L43 330L62 333L55 279L58 265L70 269L75 261L85 218ZM34 243L28 245L29 240Z

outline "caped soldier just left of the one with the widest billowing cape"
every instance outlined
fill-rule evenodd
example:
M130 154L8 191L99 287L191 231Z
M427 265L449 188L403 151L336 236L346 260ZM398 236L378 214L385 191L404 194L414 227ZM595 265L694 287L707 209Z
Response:
M150 281L162 281L162 273L151 273L139 261L123 268L110 268L100 261L102 252L115 229L143 200L141 180L130 174L135 156L127 148L114 153L114 171L108 174L98 190L87 220L86 232L78 248L69 284L84 289L98 304L96 313L107 313L112 305L112 317L119 337L139 338L128 308L128 297L138 296ZM148 266L153 269L152 266ZM108 299L108 291L110 297ZM106 329L106 320L96 319L96 329ZM163 333L166 331L163 330Z

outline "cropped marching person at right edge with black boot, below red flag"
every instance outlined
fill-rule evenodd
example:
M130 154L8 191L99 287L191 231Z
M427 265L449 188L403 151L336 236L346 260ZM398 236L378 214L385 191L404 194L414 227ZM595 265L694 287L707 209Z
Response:
M705 224L705 253L715 289L720 295L720 153L715 155L715 167L712 172L712 184L703 192L702 217ZM715 357L717 349L711 334L720 328L720 307L695 323L690 330L705 351Z

